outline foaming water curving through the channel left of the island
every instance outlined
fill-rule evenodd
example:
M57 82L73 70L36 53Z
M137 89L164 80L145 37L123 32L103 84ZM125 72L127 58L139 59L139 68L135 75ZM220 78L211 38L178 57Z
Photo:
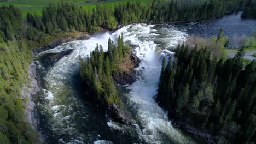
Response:
M108 38L113 38L108 32L95 35L89 40L72 41L70 43L61 44L55 49L39 53L38 57L43 57L47 53L57 53L68 49L73 52L59 61L57 61L49 69L45 69L40 61L38 62L40 71L43 71L44 89L38 100L39 123L44 129L46 137L50 139L49 143L83 143L93 142L98 139L97 133L100 130L92 130L87 127L97 113L97 107L84 103L79 97L79 57L87 57L96 47L96 44L103 46L103 50L107 50ZM98 115L102 113L98 112ZM98 117L98 115L95 115ZM104 119L104 115L98 117ZM83 123L84 122L84 123ZM94 123L94 122L92 122ZM107 129L98 123L98 129ZM90 134L92 133L92 134ZM95 133L95 134L93 134Z

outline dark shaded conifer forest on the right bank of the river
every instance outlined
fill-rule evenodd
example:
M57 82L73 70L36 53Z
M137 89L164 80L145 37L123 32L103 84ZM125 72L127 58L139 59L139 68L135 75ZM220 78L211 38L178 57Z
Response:
M223 60L206 48L179 46L174 62L165 67L164 59L158 101L173 116L191 118L229 143L253 142L256 62L244 66L243 56L243 48L233 59Z

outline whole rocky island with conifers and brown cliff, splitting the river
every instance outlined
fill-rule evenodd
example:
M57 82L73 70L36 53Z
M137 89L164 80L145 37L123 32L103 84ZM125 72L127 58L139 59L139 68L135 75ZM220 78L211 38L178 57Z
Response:
M123 37L118 38L117 44L109 38L107 52L97 44L90 57L80 61L80 78L90 93L85 95L105 106L115 121L130 124L130 116L124 110L116 86L136 81L134 68L139 66L140 59L132 53L131 47L124 45Z

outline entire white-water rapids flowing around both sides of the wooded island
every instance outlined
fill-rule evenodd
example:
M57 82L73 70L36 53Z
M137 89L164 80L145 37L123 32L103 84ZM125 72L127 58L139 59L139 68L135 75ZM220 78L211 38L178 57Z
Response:
M43 56L46 53L74 49L71 54L61 58L49 70L40 68L45 71L43 76L45 89L42 100L38 104L42 110L40 114L47 117L45 123L49 125L47 127L50 131L49 135L57 135L59 143L91 143L91 141L112 143L115 134L119 133L137 137L137 140L132 143L195 143L183 131L173 127L172 122L168 120L167 112L162 110L154 100L158 89L162 57L172 53L168 50L158 51L158 44L161 44L161 48L176 46L185 41L187 34L178 31L175 27L168 29L154 29L154 27L146 24L129 25L112 34L106 32L95 35L89 40L72 41L39 53L39 56ZM135 117L131 126L107 119L106 123L103 121L100 125L101 127L105 125L107 128L97 129L100 126L97 126L96 122L86 123L86 119L94 117L94 112L86 110L88 107L83 104L81 98L74 97L77 92L73 89L75 85L73 77L79 70L79 56L84 58L89 55L97 43L101 44L106 51L108 38L116 41L121 34L124 36L125 43L132 45L135 48L133 52L142 60L136 68L140 72L139 79L127 86L130 89L130 93L127 94L129 103L125 105L130 106L131 110L136 110L131 111ZM38 65L40 66L40 62ZM95 119L100 121L100 118ZM96 130L94 133L86 133L87 128ZM109 133L114 133L114 136ZM109 136L104 137L107 134ZM65 139L67 135L69 138ZM122 138L117 136L117 139Z

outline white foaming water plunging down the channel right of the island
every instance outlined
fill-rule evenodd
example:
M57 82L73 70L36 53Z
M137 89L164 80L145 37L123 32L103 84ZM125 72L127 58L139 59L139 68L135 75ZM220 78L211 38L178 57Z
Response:
M166 54L157 51L157 44L154 40L159 39L165 32L168 35L166 48L182 43L186 33L177 29L159 29L150 31L153 25L131 25L122 31L126 43L136 47L135 54L142 60L136 70L140 71L139 79L129 88L130 105L137 109L136 125L138 135L146 143L193 143L193 141L174 128L168 120L167 112L155 102L159 77L161 72L162 57ZM152 33L153 32L153 33ZM166 51L166 50L164 50ZM115 125L116 127L117 125Z

